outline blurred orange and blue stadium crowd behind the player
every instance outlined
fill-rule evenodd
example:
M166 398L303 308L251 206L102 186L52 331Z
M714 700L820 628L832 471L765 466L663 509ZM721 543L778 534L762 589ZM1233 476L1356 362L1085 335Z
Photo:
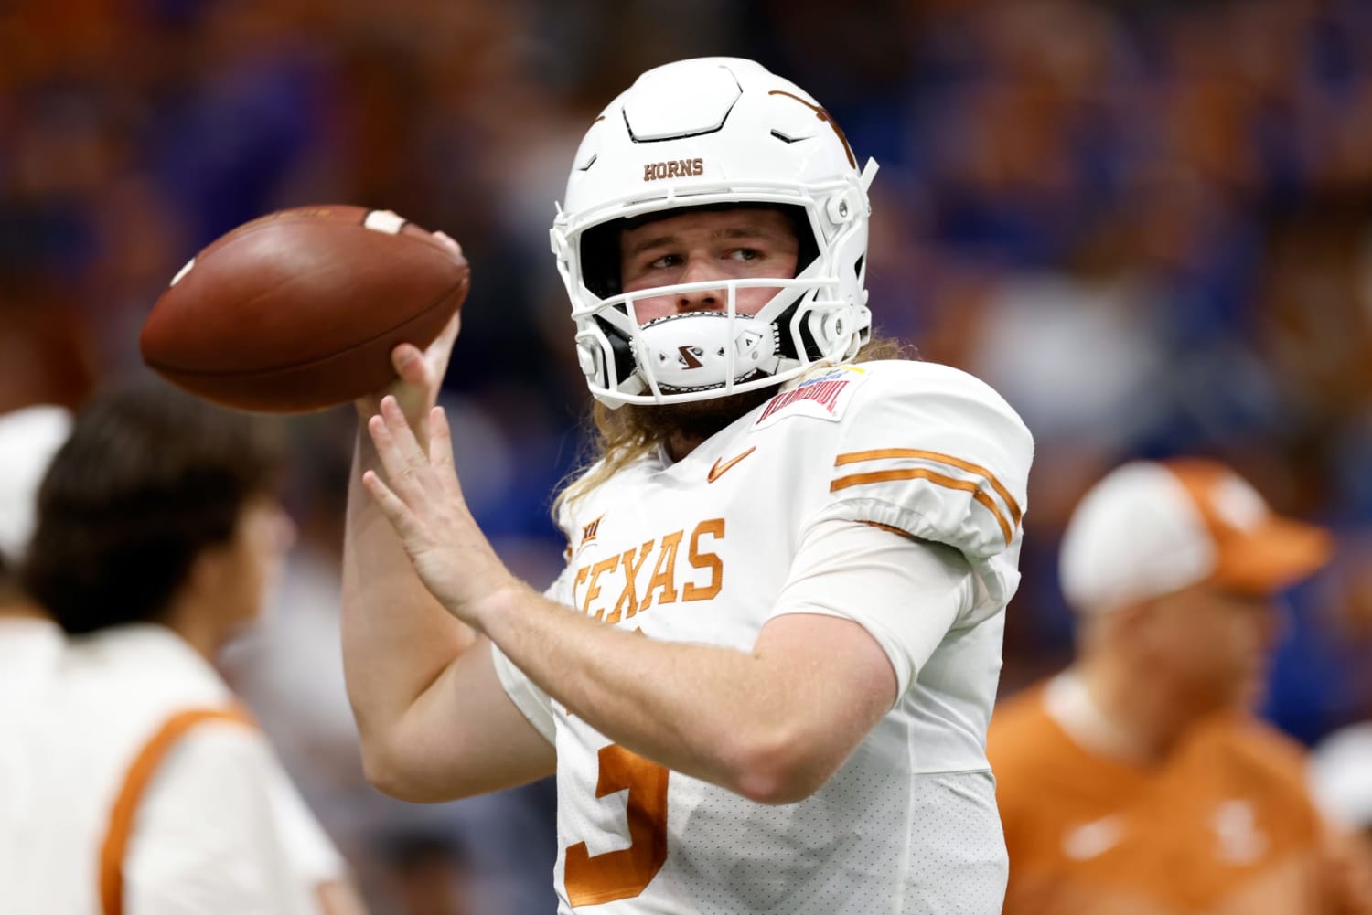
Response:
M1034 432L1003 693L1070 653L1055 569L1077 497L1128 457L1188 453L1339 540L1291 597L1268 717L1313 744L1372 716L1361 0L15 0L0 412L140 372L143 317L229 228L306 203L391 209L473 265L447 379L457 458L482 527L542 586L563 547L549 492L587 401L553 202L605 102L707 54L807 86L881 163L878 326L996 385ZM435 808L365 786L336 643L353 420L291 433L300 545L230 676L377 912L553 911L547 786Z

